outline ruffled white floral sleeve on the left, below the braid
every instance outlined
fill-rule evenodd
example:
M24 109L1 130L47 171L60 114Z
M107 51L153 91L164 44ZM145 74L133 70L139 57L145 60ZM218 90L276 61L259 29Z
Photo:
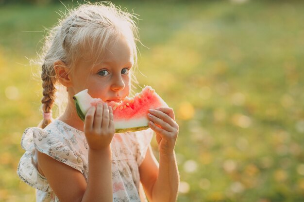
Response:
M82 159L73 153L64 139L60 140L51 131L38 127L27 128L23 133L21 146L25 153L19 161L17 174L22 181L36 189L52 191L47 179L37 170L36 150L84 173Z

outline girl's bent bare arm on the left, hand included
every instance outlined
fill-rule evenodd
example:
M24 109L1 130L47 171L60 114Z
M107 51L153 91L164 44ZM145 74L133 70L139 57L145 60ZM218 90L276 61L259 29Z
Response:
M80 171L40 152L38 170L61 202L112 202L110 142L115 133L112 109L102 105L89 109L84 133L89 145L87 183Z

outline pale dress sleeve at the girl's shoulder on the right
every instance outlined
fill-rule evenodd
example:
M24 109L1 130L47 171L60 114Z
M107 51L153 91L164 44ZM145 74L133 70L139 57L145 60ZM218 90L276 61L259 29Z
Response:
M136 139L138 142L137 154L136 154L136 162L138 166L143 162L145 159L148 147L150 142L153 138L154 131L149 128L147 130L142 130L136 132Z

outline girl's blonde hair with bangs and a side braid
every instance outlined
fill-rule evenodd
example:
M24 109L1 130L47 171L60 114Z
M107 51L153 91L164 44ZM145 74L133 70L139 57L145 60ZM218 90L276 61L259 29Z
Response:
M115 43L119 36L123 36L133 48L134 67L137 69L136 42L139 41L139 37L134 19L137 19L134 14L123 11L109 1L79 5L63 15L58 25L46 36L40 56L43 87L41 103L44 113L50 113L56 98L65 93L56 93L60 92L60 84L54 70L54 62L58 60L64 62L69 71L73 70L73 66L80 58L90 59L94 63L101 62L105 47ZM97 47L100 50L99 54L96 53ZM131 72L131 76L133 83L138 83L134 71ZM59 104L58 109L62 112ZM38 126L44 128L50 123L50 119L44 118Z

